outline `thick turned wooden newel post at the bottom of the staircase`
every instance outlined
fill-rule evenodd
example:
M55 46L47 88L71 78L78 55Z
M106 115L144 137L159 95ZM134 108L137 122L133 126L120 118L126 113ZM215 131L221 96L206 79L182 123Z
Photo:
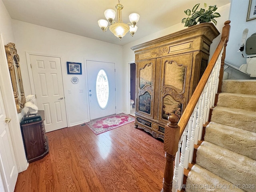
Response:
M180 140L180 127L177 122L179 118L176 115L168 116L170 121L164 130L164 151L165 151L165 168L164 168L164 179L163 188L161 192L172 191L172 178L174 174L174 160L175 154L178 150L178 142Z

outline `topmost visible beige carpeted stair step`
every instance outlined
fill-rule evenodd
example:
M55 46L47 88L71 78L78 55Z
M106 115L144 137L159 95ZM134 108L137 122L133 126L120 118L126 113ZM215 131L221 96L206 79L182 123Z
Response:
M256 95L256 80L223 80L221 91Z

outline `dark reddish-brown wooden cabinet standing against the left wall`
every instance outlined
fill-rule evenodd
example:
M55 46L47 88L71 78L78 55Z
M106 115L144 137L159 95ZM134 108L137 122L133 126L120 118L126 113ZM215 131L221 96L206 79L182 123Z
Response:
M44 118L40 121L22 124L21 129L28 162L44 158L49 153Z

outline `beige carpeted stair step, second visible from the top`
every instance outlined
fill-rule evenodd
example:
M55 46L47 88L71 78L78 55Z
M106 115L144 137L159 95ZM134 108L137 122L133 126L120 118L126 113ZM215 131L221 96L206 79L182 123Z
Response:
M256 95L223 92L218 96L217 105L256 112Z

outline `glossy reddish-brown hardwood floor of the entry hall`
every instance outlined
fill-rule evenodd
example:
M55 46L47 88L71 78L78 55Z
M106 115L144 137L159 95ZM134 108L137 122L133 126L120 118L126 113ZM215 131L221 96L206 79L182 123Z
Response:
M80 125L46 133L49 154L19 173L15 192L160 192L164 144L133 127L97 136Z

